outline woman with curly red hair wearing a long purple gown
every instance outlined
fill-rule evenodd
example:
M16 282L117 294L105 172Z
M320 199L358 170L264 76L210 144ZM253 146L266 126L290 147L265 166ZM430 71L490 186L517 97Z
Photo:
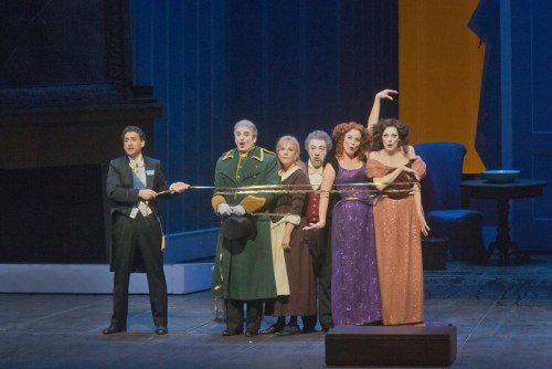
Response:
M322 175L319 219L308 229L326 225L329 191L331 210L331 315L333 324L363 325L381 320L381 298L375 260L373 200L367 186L365 128L341 123L333 128L336 156Z

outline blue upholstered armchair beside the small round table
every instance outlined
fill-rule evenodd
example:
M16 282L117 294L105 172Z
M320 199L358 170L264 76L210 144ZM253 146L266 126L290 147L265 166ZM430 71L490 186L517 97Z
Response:
M453 260L484 261L482 213L460 208L460 181L466 148L456 143L415 145L427 165L422 203L431 238L446 236Z

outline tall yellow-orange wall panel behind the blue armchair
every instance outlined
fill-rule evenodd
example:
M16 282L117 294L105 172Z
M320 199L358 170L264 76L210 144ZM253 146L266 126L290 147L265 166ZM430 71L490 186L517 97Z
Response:
M475 150L485 45L467 23L478 0L400 0L399 94L411 143L457 141L464 172L485 170Z

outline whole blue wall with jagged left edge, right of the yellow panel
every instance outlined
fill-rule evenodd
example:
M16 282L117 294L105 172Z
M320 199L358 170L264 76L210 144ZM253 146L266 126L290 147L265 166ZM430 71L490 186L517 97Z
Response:
M508 168L510 161L514 169L521 170L522 178L549 183L552 183L551 17L550 1L481 0L470 21L470 28L487 46L478 152L490 169ZM511 235L523 250L552 251L550 193L549 184L541 198L511 201Z

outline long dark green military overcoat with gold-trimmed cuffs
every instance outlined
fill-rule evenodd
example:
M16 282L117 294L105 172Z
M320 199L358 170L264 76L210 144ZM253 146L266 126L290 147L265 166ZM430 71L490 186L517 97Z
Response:
M278 184L278 160L274 152L255 147L241 157L232 149L219 158L215 167L216 189L248 186ZM253 213L268 212L275 193L219 194L215 190L213 208L226 202L229 205L242 204ZM251 217L251 215L250 215ZM251 217L256 232L247 240L231 241L219 232L215 263L213 268L212 293L215 297L231 299L276 298L276 284L270 246L270 219L268 215Z

